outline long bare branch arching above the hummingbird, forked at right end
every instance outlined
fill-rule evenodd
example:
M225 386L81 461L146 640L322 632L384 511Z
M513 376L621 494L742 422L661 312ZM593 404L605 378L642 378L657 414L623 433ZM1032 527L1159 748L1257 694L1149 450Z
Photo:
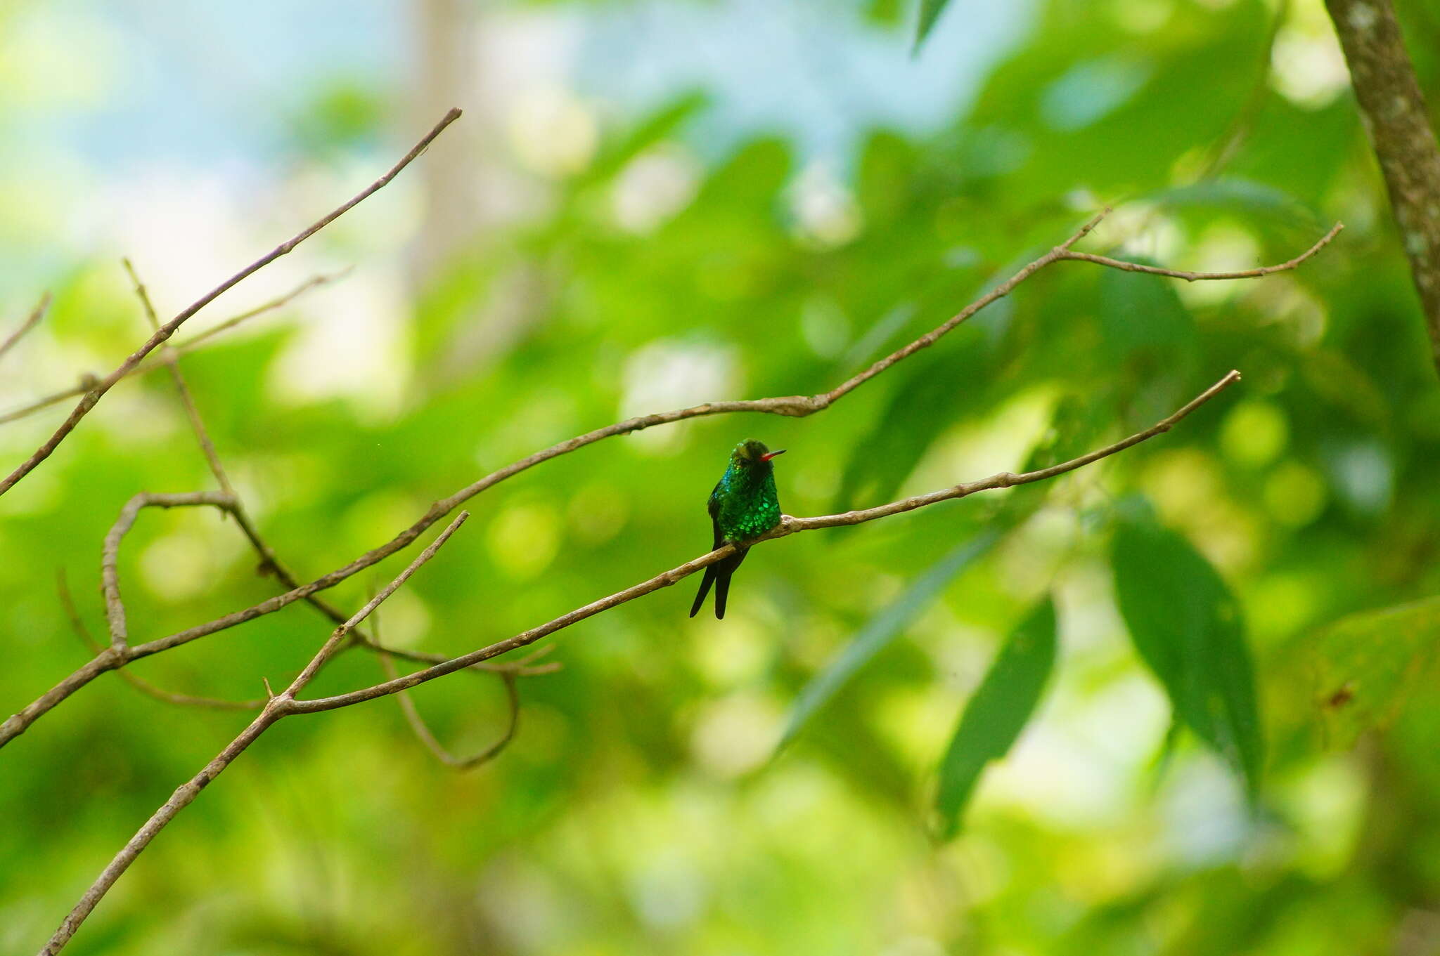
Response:
M278 595L275 595L272 598L261 601L259 604L253 604L253 605L251 605L248 608L242 608L239 611L233 611L233 612L226 614L223 617L215 618L213 621L207 621L204 624L197 624L194 627L190 627L190 628L186 628L183 631L177 631L174 634L168 634L168 635L164 635L164 637L158 637L158 638L156 638L153 641L147 641L144 644L137 644L137 645L134 645L134 647L130 648L130 651L127 653L125 658L122 658L122 660L111 657L111 658L104 660L104 661L99 660L99 658L96 658L95 661L91 661L89 664L86 664L85 667L82 667L81 670L75 671L73 674L71 674L69 677L66 677L63 681L60 681L59 684L56 684L55 687L52 687L49 691L46 691L42 697L39 697L37 700L35 700L32 704L29 704L27 707L24 707L19 713L13 714L4 723L0 723L0 746L4 746L7 742L10 742L12 739L14 739L17 735L23 733L39 716L42 716L43 713L46 713L50 707L53 707L60 700L65 700L65 697L68 697L71 693L73 693L79 687L85 686L85 683L88 683L89 680L94 680L98 674L104 673L109 667L122 666L124 663L128 663L128 660L135 660L138 657L147 657L150 654L157 654L157 653L170 650L173 647L179 647L181 644L187 644L187 643L190 643L193 640L199 640L202 637L207 637L210 634L216 634L219 631L236 627L239 624L245 624L246 621L253 621L258 617L264 617L266 614L274 614L275 611L279 611L281 608L284 608L284 607L287 607L287 605L289 605L289 604L292 604L295 601L310 599L312 595L318 594L320 591L325 591L328 588L333 588L337 584L340 584L341 581L346 581L347 578L350 578L350 576L353 576L353 575L364 571L366 568L370 568L370 566L379 564L380 561L384 561L390 555L393 555L393 553L396 553L399 551L403 551L412 542L415 542L420 535L423 535L425 530L429 529L433 523L436 523L438 520L444 519L446 515L449 515L451 512L454 512L456 507L459 507L461 505L464 505L465 502L468 502L474 496L477 496L481 492L484 492L484 490L487 490L487 489L498 484L500 482L504 482L505 479L514 477L516 474L520 474L521 472L526 472L527 469L534 467L536 464L540 464L543 461L549 461L550 459L559 457L562 454L567 454L570 451L582 449L582 447L585 447L588 444L593 444L593 443L600 441L603 438L611 438L611 437L621 436L621 434L631 434L634 431L641 431L644 428L652 428L655 426L670 424L670 423L674 423L674 421L684 421L684 420L688 420L688 418L698 418L698 417L706 417L706 415L729 414L729 413L744 413L744 411L762 413L762 414L791 415L791 417L801 417L802 418L802 417L815 414L818 411L824 411L831 404L834 404L835 401L838 401L840 398L842 398L848 392L854 391L855 388L858 388L864 382L870 381L871 378L874 378L880 372L883 372L887 368L893 367L894 364L897 364L897 362L909 358L914 352L933 345L942 336L945 336L946 334L949 334L950 331L953 331L958 325L960 325L962 322L965 322L966 319L969 319L971 316L973 316L976 312L979 312L985 306L994 303L995 300L998 300L998 299L1009 295L1020 283L1025 282L1028 277L1031 277L1032 275L1035 275L1038 270L1041 270L1041 269L1044 269L1044 267L1047 267L1047 266L1050 266L1050 265L1053 265L1056 262L1064 262L1067 259L1074 259L1077 262L1090 262L1092 265L1128 269L1133 263L1122 263L1120 260L1107 260L1103 256L1087 257L1086 254L1073 253L1071 252L1071 247L1077 242L1080 242L1081 239L1084 239L1086 236L1089 236L1090 231L1100 223L1102 219L1104 219L1104 216L1110 210L1106 208L1102 213L1093 216L1089 221L1086 221L1079 230L1076 230L1076 233L1073 233L1063 243L1060 243L1058 246L1056 246L1054 249L1051 249L1045 254L1040 256L1038 259L1027 263L1024 267L1021 267L1009 279L1007 279L1001 285L995 286L994 289L991 289L988 293L985 293L984 296L981 296L979 299L976 299L971 305L965 306L965 309L962 309L960 312L958 312L956 315L953 315L945 323L939 325L937 328L932 329L930 332L927 332L926 335L917 338L916 341L910 342L909 345L906 345L906 346L903 346L903 348L891 352L890 355L881 358L880 361L877 361L873 365L870 365L867 369L864 369L860 374L851 377L850 380L841 382L840 385L837 385L835 388L832 388L828 392L821 392L821 394L816 394L816 395L782 395L782 397L775 397L775 398L756 398L756 400L746 400L746 401L706 403L706 404L701 404L701 405L693 405L690 408L678 408L678 410L674 410L674 411L665 411L665 413L658 413L658 414L651 414L651 415L641 415L641 417L636 417L636 418L626 418L625 421L619 421L619 423L615 423L612 426L606 426L603 428L596 428L593 431L588 431L585 434L580 434L580 436L576 436L573 438L567 438L564 441L553 444L549 449L544 449L544 450L537 451L537 453L534 453L534 454L531 454L528 457L524 457L524 459L521 459L518 461L507 464L505 467L503 467L503 469L500 469L497 472L491 472L490 474L481 477L480 480L477 480L477 482L474 482L474 483L471 483L471 484L459 489L458 492L455 492L449 497L439 499L438 502L432 503L431 507L425 512L425 515L422 515L413 525L410 525L409 528L406 528L405 530L402 530L400 533L397 533L395 538L392 538L386 543L380 545L379 548L373 548L373 549L367 551L366 553L360 555L359 558L356 558L350 564L347 564L347 565L344 565L341 568L337 568L337 569L334 569L334 571L331 571L331 572L328 572L325 575L321 575L320 578L315 578L314 581L310 581L308 584L291 587L289 591L287 591L284 594L278 594ZM1332 227L1331 231L1326 233L1326 236L1320 239L1320 242L1318 242L1315 246L1312 246L1303 254L1296 256L1295 259L1292 259L1292 260L1289 260L1286 263L1280 263L1279 266L1267 266L1267 267L1264 267L1261 270L1253 270L1254 275L1270 275L1272 272L1280 272L1280 270L1286 270L1286 269L1295 269L1296 266L1299 266L1300 263L1303 263L1309 256L1313 256L1316 252L1319 252L1320 249L1323 249L1323 246L1331 239L1333 239L1335 234L1341 229L1342 229L1342 226L1339 223L1336 223L1335 227ZM1195 275L1201 275L1201 273L1195 273ZM1233 277L1248 277L1250 275L1251 273L1234 273ZM1185 277L1185 276L1181 275L1181 273L1176 273L1176 277ZM1212 277L1220 279L1220 277L1227 277L1227 276L1214 275Z

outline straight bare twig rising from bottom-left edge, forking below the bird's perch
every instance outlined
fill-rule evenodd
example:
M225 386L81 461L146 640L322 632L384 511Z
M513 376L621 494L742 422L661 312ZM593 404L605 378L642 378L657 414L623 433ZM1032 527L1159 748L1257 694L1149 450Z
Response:
M164 829L166 824L174 819L176 814L189 806L194 798L200 795L200 791L204 789L210 781L219 776L225 768L228 768L235 758L243 753L245 749L249 748L262 733L265 733L271 725L292 713L295 694L300 693L318 673L325 658L340 648L350 631L372 611L374 611L380 602L395 594L395 589L405 584L410 575L420 568L420 565L433 558L435 552L439 551L446 541L449 541L449 536L455 533L455 529L464 525L468 518L469 512L461 512L455 520L452 520L449 526L442 530L405 571L396 575L396 578L380 591L380 594L377 594L363 608L356 611L356 614L353 614L330 634L330 638L318 651L315 651L315 656L295 677L295 680L291 681L289 687L266 700L261 713L248 727L245 727L245 730L240 732L238 737L220 750L213 760L206 763L204 769L190 778L186 783L176 788L176 792L170 795L170 799L167 799L164 805L161 805L160 809L157 809L150 819L145 821L135 835L130 838L130 842L127 842L124 848L115 854L114 860L109 861L109 865L101 871L95 883L92 883L85 891L85 896L81 897L81 901L75 904L75 909L69 911L59 929L55 930L55 934L50 936L45 949L40 950L40 956L55 956L55 953L65 949L65 944L72 936L75 936L75 930L78 930L85 919L95 910L95 906L101 901L101 898L104 898L105 893L109 891L109 887L115 884L115 880L118 880L121 874L130 868L130 864L135 861L135 857L138 857L144 848L150 845L150 841L154 840L161 829Z

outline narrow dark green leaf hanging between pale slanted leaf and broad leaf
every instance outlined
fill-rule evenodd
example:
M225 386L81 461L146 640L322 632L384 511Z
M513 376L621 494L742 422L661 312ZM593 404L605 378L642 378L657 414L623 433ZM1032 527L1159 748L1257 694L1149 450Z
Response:
M935 795L943 838L959 831L965 804L985 765L1005 756L1025 727L1054 663L1056 605L1047 597L1005 641L965 704L960 725L945 750Z

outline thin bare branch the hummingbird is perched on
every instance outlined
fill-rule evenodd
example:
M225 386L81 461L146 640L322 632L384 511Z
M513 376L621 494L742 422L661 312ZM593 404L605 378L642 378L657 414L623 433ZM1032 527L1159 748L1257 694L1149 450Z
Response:
M927 505L936 505L939 502L949 502L959 497L966 497L969 495L975 495L976 492L986 492L1001 487L1014 487L1017 484L1030 484L1032 482L1044 482L1047 479L1057 477L1067 472L1074 472L1076 469L1081 469L1093 461L1099 461L1100 459L1109 457L1132 446L1136 446L1140 441L1153 438L1158 434L1169 431L1182 418L1189 415L1192 411L1200 408L1202 404L1205 404L1207 401L1218 395L1221 391L1236 384L1237 381L1240 381L1240 372L1231 371L1228 375L1225 375L1214 385L1207 388L1204 392L1197 395L1182 408L1179 408L1169 417L1155 423L1149 428L1138 431L1129 436L1128 438L1122 438L1115 444L1109 444L1096 451L1090 451L1089 454L1071 459L1070 461L1063 461L1048 469L1040 469L1037 472L1024 472L1020 474L1015 474L1012 472L1001 472L979 482L956 484L953 487L942 489L939 492L932 492L929 495L916 495L914 497L900 499L897 502L890 502L888 505L880 505L877 507L868 507L864 510L845 512L842 515L824 515L819 518L791 518L789 515L785 515L782 516L780 525L778 528L762 535L747 546L759 545L766 541L773 541L776 538L785 538L788 535L795 535L804 530L816 530L821 528L840 528L844 525L863 525L865 522L873 522L880 518L890 518L891 515L900 515L904 512L912 512L917 507L926 507ZM387 680L382 684L374 684L372 687L364 687L361 690L353 690L350 693L336 694L333 697L320 697L315 700L297 700L291 706L291 709L297 713L315 713L320 710L334 710L337 707L348 707L351 704L357 704L366 700L374 700L376 697L384 697L387 694L395 694L402 690L409 690L410 687L423 684L429 680L435 680L436 677L444 677L445 674L455 673L456 670L462 670L478 661L490 660L507 651L513 651L517 647L533 644L534 641L539 641L543 637L549 637L556 631L562 631L570 627L572 624L583 621L585 618L595 617L602 611L608 611L628 601L634 601L635 598L644 597L654 591L660 591L661 588L668 588L677 581L681 581L688 575L708 565L713 565L717 561L727 558L733 552L734 552L734 545L723 545L721 548L717 548L707 555L701 555L694 561L687 561L685 564L677 568L671 568L664 574L658 574L654 578L649 578L648 581L642 581L636 585L625 588L624 591L616 591L615 594L600 598L599 601L592 601L585 607L576 608L569 614L560 615L553 621L540 624L539 627L533 627L521 634L516 634L514 637L505 638L504 641L498 641L488 647L482 647L480 650L471 651L469 654L454 657L445 661L444 664L426 667L425 670L408 674L405 677Z

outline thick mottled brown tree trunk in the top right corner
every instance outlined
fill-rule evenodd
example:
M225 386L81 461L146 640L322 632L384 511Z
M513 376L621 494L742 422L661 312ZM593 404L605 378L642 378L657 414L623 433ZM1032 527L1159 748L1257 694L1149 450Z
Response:
M1440 145L1390 0L1325 0L1359 115L1385 175L1390 206L1440 371Z

